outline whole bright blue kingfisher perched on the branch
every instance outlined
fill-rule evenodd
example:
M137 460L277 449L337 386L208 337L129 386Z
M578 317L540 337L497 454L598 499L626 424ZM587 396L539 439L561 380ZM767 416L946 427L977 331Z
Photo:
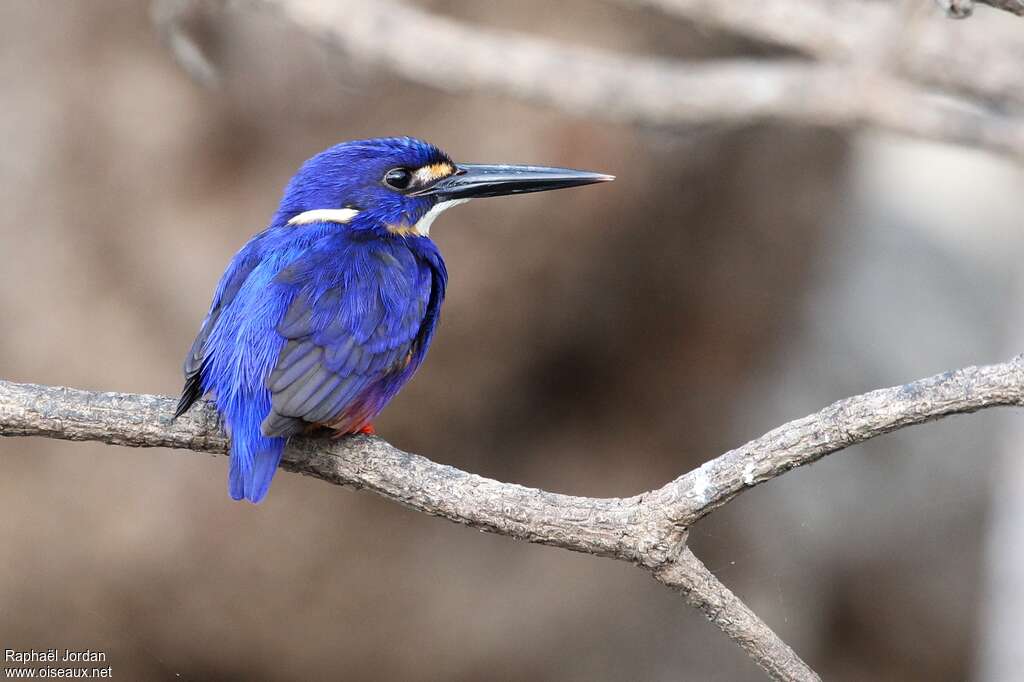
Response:
M259 503L292 436L375 432L426 356L447 270L434 219L472 199L605 182L544 166L456 164L414 137L308 159L263 231L231 258L184 361L177 419L212 395L227 487Z

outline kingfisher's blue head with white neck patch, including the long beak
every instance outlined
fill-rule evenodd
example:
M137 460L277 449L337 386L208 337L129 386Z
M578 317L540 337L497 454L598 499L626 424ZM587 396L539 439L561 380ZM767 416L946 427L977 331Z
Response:
M446 208L479 197L573 187L610 175L543 166L456 164L433 144L381 137L336 144L295 174L273 225L342 223L400 237L428 237Z

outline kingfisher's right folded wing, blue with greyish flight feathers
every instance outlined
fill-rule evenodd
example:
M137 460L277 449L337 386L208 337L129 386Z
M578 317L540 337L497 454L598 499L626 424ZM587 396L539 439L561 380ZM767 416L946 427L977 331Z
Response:
M293 299L276 327L286 342L266 380L263 434L369 423L422 359L439 306L433 280L401 242L328 243L285 267L275 283Z

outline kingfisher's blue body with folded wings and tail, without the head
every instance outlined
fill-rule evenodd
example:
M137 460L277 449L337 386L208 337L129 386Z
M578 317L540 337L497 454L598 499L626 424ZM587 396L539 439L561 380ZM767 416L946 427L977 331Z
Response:
M288 435L369 422L423 359L446 281L432 243L268 229L236 255L185 359L231 438L228 489L266 495ZM419 254L419 255L417 255Z

